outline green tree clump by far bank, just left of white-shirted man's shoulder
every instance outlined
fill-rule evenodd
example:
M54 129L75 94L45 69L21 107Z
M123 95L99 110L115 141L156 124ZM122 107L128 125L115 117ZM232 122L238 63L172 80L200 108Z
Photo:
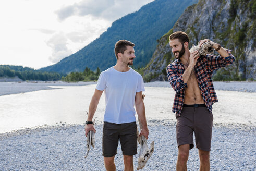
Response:
M77 81L97 81L101 74L100 68L97 67L96 72L86 67L83 72L71 72L66 77L62 77L62 81L77 82Z

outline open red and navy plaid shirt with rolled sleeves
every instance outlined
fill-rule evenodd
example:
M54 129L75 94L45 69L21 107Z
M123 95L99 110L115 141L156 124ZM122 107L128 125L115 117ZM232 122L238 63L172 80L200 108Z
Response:
M226 51L229 54L228 57L224 58L208 54L200 57L194 66L200 92L210 112L212 112L212 104L218 102L212 82L213 70L231 65L235 61L235 57L230 53L230 50ZM172 111L180 115L185 97L185 89L187 87L187 83L184 83L182 77L185 68L180 59L176 59L172 64L167 66L166 70L170 85L176 91Z

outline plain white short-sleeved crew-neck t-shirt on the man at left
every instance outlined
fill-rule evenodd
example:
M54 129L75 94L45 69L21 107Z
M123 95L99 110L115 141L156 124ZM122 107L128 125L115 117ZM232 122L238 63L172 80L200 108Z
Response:
M119 72L114 67L101 72L97 90L105 90L104 121L115 124L131 123L135 118L136 92L145 91L142 76L130 68Z

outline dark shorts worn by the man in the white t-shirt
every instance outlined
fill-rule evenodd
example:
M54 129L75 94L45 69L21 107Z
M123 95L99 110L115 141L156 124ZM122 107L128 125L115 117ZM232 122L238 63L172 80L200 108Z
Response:
M113 157L117 154L118 140L120 140L123 155L137 154L136 122L125 124L104 122L102 136L102 155L104 157Z

